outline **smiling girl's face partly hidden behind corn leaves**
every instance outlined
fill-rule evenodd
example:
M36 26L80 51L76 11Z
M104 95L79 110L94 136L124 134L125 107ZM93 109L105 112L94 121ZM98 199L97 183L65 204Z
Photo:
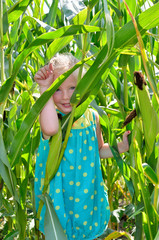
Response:
M54 79L59 77L61 74L54 74ZM56 90L53 94L54 103L59 111L67 114L72 111L72 106L70 104L71 96L77 85L77 80L73 75L70 75Z

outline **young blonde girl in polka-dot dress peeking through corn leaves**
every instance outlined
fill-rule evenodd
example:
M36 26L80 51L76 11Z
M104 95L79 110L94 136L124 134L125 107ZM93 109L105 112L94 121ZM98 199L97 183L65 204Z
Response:
M77 63L71 54L58 54L35 75L40 93L53 81ZM70 98L77 84L78 70L72 73L49 99L40 113L42 131L35 168L35 196L38 209L42 194L45 167L49 152L49 137L58 132L57 113L65 115L72 110ZM120 153L128 151L127 131L118 143ZM49 195L68 240L92 240L106 229L110 217L107 192L104 189L100 158L113 157L104 143L97 112L88 108L73 124L67 147L55 177L49 186ZM54 164L54 163L53 163ZM39 230L44 233L45 206L41 212Z

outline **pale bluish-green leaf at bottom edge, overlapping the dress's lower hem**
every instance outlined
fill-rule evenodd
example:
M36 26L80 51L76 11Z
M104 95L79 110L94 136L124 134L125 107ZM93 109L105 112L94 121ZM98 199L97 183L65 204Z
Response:
M45 194L44 196L42 196L42 200L45 202L46 205L46 213L44 220L45 239L66 240L66 235L64 234L63 228L56 215L50 196L48 194Z

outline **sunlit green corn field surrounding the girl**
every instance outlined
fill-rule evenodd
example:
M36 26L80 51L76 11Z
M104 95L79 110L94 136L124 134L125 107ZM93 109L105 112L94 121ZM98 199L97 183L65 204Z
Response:
M83 65L74 116L96 109L114 156L101 161L111 219L100 239L159 239L158 26L158 0L0 0L0 239L44 239L35 227L38 117ZM79 63L40 96L34 75L57 52ZM130 149L119 155L125 130ZM45 239L54 231L64 239L53 210L46 221L52 218L56 230L50 225Z

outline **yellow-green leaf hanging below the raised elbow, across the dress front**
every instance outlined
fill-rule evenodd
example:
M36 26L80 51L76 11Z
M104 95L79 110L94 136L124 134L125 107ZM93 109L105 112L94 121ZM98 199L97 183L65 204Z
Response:
M50 150L49 150L49 155L46 162L44 191L47 188L51 179L55 176L59 168L59 165L61 162L60 161L61 159L59 159L61 146L62 146L62 130L61 130L61 123L59 121L58 133L55 134L50 141Z

